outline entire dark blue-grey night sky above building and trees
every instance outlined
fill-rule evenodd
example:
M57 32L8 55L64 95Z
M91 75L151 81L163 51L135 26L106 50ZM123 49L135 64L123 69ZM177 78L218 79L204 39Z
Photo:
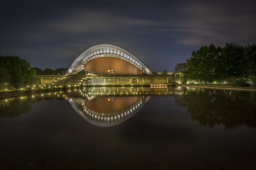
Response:
M0 56L69 67L86 49L117 45L151 71L173 71L202 45L256 43L256 1L1 1Z

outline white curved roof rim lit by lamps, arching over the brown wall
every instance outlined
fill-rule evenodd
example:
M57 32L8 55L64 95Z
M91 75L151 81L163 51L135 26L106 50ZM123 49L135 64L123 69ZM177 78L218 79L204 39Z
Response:
M78 73L79 71L84 69L85 63L89 62L89 60L106 56L120 58L138 67L138 69L140 69L142 72L152 74L147 66L140 62L138 58L136 58L128 51L125 51L125 49L121 49L120 47L116 47L114 45L96 45L87 49L86 51L81 53L81 55L78 56L76 60L74 60L67 73Z

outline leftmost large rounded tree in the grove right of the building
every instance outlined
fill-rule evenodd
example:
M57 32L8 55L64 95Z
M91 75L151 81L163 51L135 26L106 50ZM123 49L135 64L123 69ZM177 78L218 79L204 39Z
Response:
M189 80L204 81L205 84L212 82L215 78L215 63L220 56L220 47L215 45L202 46L198 51L192 52L192 57L187 62L184 77Z

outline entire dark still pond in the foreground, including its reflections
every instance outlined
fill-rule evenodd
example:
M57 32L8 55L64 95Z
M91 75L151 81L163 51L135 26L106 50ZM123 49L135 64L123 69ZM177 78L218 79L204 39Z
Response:
M0 100L0 169L256 169L256 93L83 88Z

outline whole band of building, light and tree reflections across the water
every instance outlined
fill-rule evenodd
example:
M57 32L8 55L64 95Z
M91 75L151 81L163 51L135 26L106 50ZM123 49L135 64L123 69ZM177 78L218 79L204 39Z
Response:
M118 125L138 112L151 97L171 96L201 125L256 127L256 93L204 88L83 87L0 100L0 117L19 117L42 99L64 99L94 125Z

